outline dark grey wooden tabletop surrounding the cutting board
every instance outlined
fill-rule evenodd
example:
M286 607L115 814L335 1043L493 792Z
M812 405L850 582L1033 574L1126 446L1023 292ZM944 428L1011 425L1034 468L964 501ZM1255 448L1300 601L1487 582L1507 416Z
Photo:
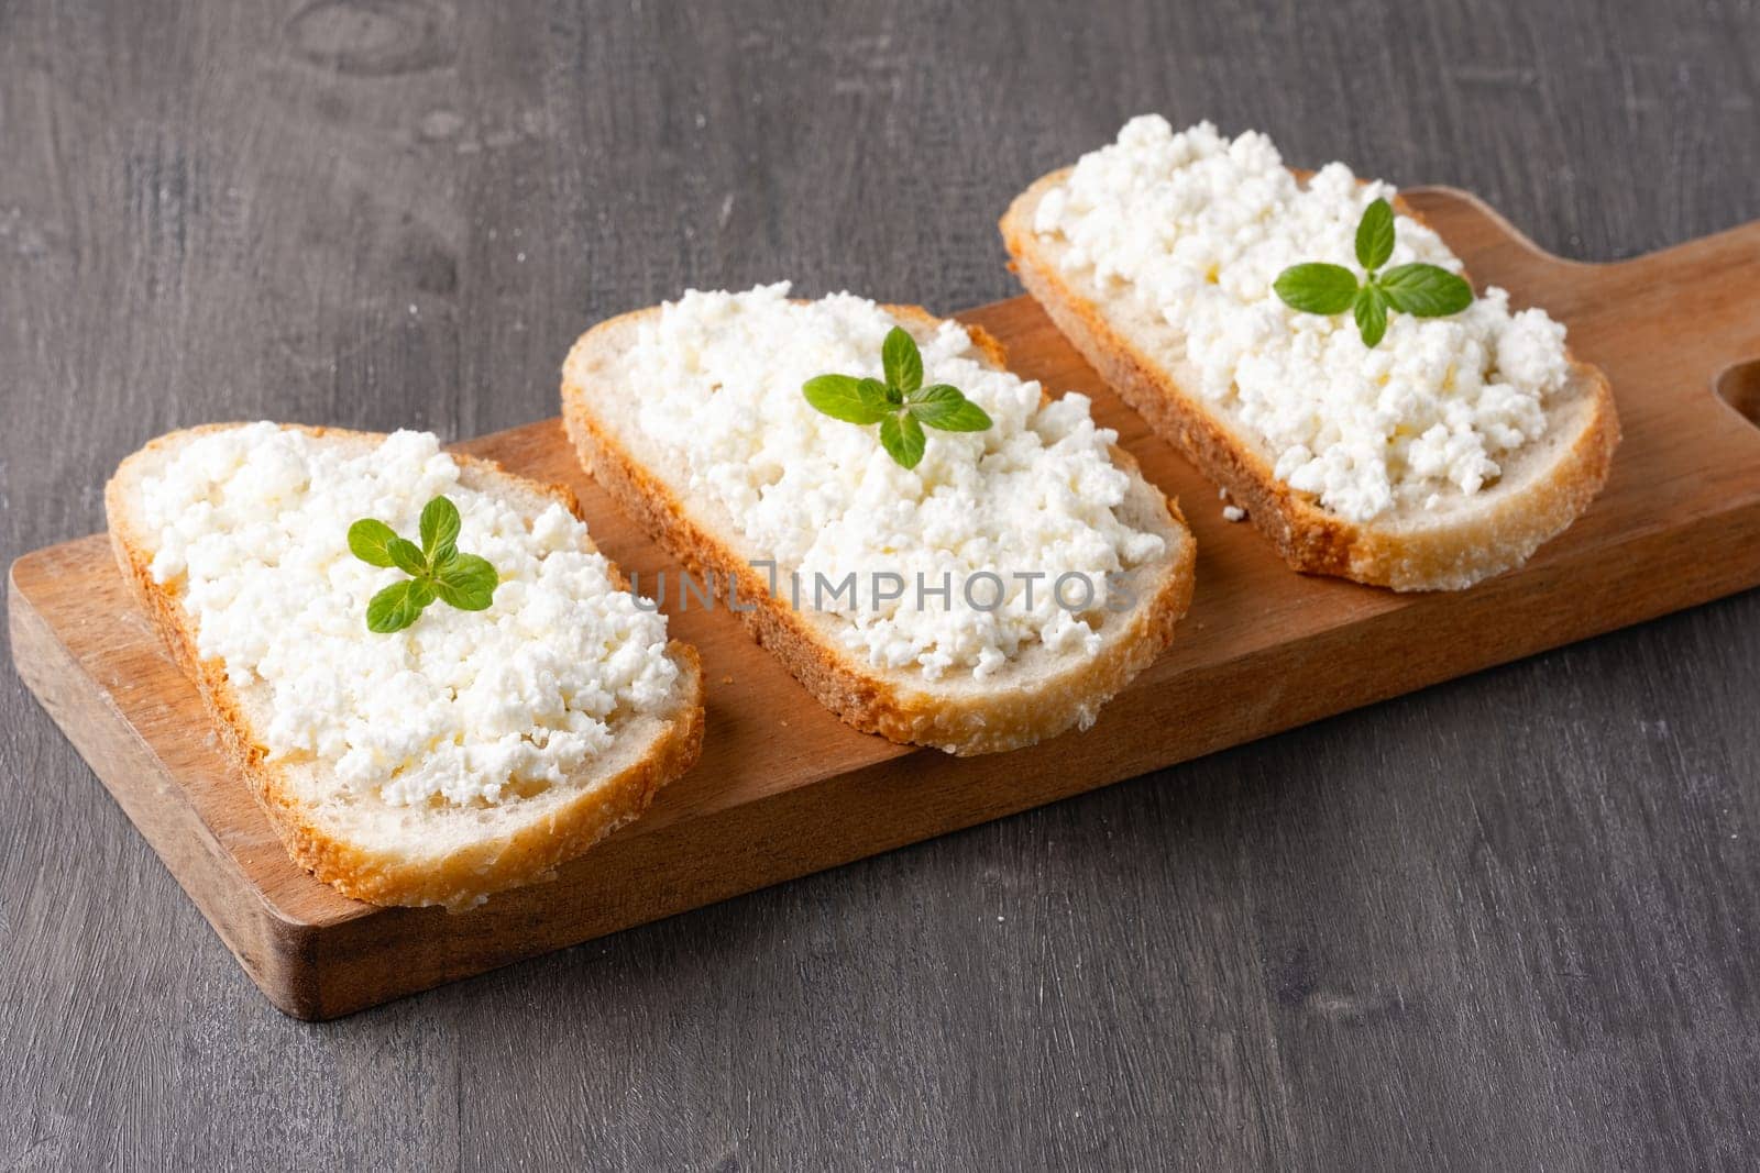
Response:
M551 415L686 285L1007 297L1140 111L1658 248L1760 216L1756 60L1753 0L0 0L0 554L171 427ZM313 1027L5 674L0 1168L1753 1168L1756 696L1749 594Z

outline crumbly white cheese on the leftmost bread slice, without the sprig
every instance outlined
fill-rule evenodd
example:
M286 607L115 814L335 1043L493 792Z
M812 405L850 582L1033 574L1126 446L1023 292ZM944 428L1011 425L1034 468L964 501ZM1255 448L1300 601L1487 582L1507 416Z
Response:
M433 603L375 635L366 603L405 577L348 552L348 526L377 517L405 536L433 496L463 519L459 549L500 573L495 603ZM459 485L428 433L368 452L275 424L216 431L148 478L153 579L190 614L197 651L241 688L268 688L271 760L320 760L345 788L392 805L495 804L503 790L561 783L616 725L672 691L665 616L642 610L586 554L561 505L526 519Z

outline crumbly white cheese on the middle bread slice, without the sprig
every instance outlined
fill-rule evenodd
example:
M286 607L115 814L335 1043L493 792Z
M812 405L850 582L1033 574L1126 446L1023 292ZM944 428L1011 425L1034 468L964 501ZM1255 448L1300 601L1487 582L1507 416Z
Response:
M1030 644L1093 654L1107 575L1162 552L1158 535L1114 512L1130 484L1109 450L1118 434L1095 426L1086 396L1040 406L1037 382L984 366L964 327L943 322L919 338L924 385L959 387L994 424L929 429L922 463L901 468L875 427L822 415L801 394L815 375L880 376L894 325L850 294L792 302L787 283L688 292L641 327L641 427L776 561L778 594L799 575L801 605L847 617L841 637L871 665L984 679ZM850 573L854 605L817 593L818 575ZM878 575L899 575L903 598L869 589ZM998 586L979 575L1001 580L1000 607L989 610ZM1060 603L1063 575L1079 579ZM919 594L919 582L950 591Z

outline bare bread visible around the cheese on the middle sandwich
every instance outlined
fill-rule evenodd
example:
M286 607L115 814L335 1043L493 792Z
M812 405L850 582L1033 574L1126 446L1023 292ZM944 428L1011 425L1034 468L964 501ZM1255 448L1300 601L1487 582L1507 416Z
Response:
M919 341L940 320L919 306L885 306ZM628 378L627 355L639 322L658 308L627 313L593 327L574 345L563 366L563 422L586 470L692 573L737 582L741 619L752 637L774 654L801 684L848 725L894 742L935 746L954 754L996 753L1031 746L1070 726L1093 723L1100 705L1142 672L1169 645L1174 624L1192 601L1195 545L1177 503L1142 478L1135 459L1112 448L1112 461L1132 480L1119 517L1163 538L1165 550L1132 577L1135 605L1109 614L1093 656L1024 649L986 681L949 674L929 681L915 668L875 668L838 638L845 624L834 614L773 598L767 579L753 570L769 557L753 549L725 506L685 487L685 471L639 426L639 387ZM1001 345L979 329L973 343L994 368L1005 368ZM753 605L755 603L755 605Z

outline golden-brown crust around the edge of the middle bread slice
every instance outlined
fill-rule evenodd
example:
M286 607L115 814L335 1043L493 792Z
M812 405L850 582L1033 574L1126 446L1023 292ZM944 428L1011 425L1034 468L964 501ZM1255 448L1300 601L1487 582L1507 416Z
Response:
M933 325L920 306L887 306L894 317ZM658 310L641 310L602 322L574 345L563 371L563 424L586 471L699 579L709 579L715 594L729 601L734 584L737 614L752 638L845 723L887 740L935 746L954 754L998 753L1037 744L1072 725L1088 726L1100 705L1156 659L1174 638L1174 626L1192 601L1195 547L1174 501L1149 487L1167 508L1170 559L1148 598L1128 614L1126 628L1105 647L1079 663L1063 667L1031 686L993 691L954 691L920 681L913 672L880 670L852 656L827 633L808 623L787 598L773 596L767 577L716 533L692 515L678 492L648 470L595 415L593 390L574 378L577 359L605 338L632 327ZM998 368L1005 366L1001 343L968 327L973 343ZM1119 448L1114 461L1140 478L1135 459ZM1148 482L1142 482L1148 485Z

